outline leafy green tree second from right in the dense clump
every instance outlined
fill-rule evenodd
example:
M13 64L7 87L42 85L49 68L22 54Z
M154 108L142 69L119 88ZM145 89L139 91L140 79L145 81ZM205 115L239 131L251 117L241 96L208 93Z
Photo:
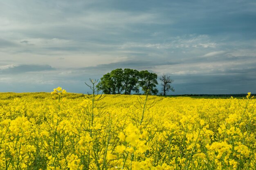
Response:
M124 69L124 94L130 95L132 91L139 93L139 71L130 68Z

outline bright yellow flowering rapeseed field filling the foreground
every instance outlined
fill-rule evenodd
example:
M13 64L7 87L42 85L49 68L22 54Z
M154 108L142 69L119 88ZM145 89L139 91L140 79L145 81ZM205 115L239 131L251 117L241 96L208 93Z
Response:
M255 170L253 98L0 93L0 170Z

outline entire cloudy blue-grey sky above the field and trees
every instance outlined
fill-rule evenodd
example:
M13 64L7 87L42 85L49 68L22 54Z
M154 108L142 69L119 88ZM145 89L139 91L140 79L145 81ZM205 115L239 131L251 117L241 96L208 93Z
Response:
M90 93L116 68L170 75L170 95L256 93L256 1L0 0L0 92Z

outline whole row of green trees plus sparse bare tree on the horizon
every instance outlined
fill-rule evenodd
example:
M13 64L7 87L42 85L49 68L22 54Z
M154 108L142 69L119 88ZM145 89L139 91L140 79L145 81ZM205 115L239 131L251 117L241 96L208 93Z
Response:
M174 91L170 85L173 80L170 76L162 75L160 78L164 95L168 91ZM117 68L101 77L101 82L97 85L97 90L102 90L104 94L126 94L139 93L141 88L144 93L156 95L157 74L147 70L137 71L130 68Z

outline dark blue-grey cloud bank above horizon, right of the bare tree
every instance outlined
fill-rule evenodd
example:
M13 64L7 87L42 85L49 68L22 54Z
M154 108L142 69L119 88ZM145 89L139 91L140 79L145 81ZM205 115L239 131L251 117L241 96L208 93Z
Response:
M254 68L255 70L255 68ZM171 75L177 94L241 94L254 91L255 71L237 70L212 75Z

